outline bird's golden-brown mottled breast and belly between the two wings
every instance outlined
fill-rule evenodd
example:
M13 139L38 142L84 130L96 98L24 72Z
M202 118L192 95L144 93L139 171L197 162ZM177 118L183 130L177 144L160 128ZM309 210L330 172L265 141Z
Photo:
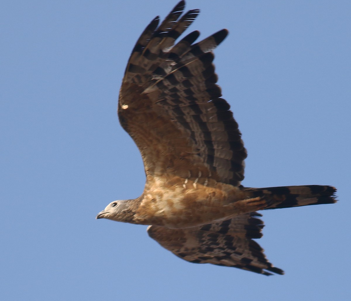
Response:
M209 178L155 177L147 181L135 222L170 228L208 224L233 215L226 205L244 197L238 187Z

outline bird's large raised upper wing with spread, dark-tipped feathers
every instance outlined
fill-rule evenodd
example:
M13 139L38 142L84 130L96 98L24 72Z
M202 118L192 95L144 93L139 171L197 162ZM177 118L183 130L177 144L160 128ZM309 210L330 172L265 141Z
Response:
M120 89L120 122L147 176L172 173L239 185L246 150L229 104L219 98L211 52L227 30L198 43L195 31L174 45L199 13L180 18L184 5L180 1L159 26L156 17L137 41Z

